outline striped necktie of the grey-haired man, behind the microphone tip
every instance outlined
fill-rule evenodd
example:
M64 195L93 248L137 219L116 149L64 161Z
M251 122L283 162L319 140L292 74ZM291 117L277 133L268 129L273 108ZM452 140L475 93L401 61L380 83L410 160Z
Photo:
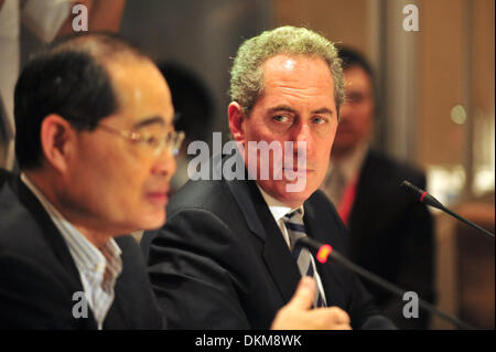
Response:
M305 226L303 224L303 217L301 210L292 211L283 217L285 228L288 230L290 238L290 247L294 259L296 260L298 268L302 276L315 277L316 273L315 263L312 260L312 256L309 249L298 246L294 248L294 243L301 237L306 236ZM323 295L317 287L315 290L315 298L313 301L314 307L326 307L325 300L322 299Z

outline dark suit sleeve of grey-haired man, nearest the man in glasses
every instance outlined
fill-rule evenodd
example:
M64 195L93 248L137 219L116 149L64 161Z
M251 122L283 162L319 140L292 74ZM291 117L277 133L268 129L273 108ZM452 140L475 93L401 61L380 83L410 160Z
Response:
M204 210L168 218L150 246L149 274L170 329L249 329L236 265L242 248L225 223Z

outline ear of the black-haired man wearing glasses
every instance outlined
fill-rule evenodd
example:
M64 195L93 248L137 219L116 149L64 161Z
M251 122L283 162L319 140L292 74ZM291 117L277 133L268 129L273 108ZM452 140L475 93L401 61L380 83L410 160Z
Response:
M75 149L75 134L71 124L60 115L48 115L41 126L43 156L58 172L67 170L69 154Z

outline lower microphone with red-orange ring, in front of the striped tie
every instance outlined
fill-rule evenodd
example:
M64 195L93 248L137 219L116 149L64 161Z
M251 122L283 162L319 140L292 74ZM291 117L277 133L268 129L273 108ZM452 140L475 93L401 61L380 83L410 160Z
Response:
M401 289L398 286L395 286L391 282L382 279L380 276L373 274L373 273L364 269L363 267L354 264L353 262L347 259L344 255L338 253L336 249L333 249L333 247L328 244L322 244L315 239L310 238L309 236L304 236L304 237L299 238L294 243L294 247L296 248L298 246L304 247L304 248L309 249L311 253L315 254L316 259L322 264L326 263L328 257L333 258L334 260L336 260L337 263L343 265L348 270L378 285L379 287L381 287L382 289L386 289L387 291L398 295L399 297L401 297L401 299L403 298L405 292L407 292L405 289ZM444 320L451 322L452 324L454 324L461 329L475 330L474 327L467 324L466 322L463 322L462 320L460 320L455 317L452 317L452 316L439 310L438 308L435 308L434 306L424 301L421 298L419 298L419 306L422 307L423 309L430 311L431 313L434 313L434 314L443 318Z

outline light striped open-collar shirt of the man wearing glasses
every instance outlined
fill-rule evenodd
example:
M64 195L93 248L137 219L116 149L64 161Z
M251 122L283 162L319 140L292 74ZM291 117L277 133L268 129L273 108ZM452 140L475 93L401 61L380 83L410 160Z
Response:
M114 238L110 238L100 249L95 247L64 218L24 173L21 173L21 180L41 202L67 244L79 271L86 301L94 312L98 329L101 330L105 317L114 301L116 280L122 271L120 258L122 252Z

